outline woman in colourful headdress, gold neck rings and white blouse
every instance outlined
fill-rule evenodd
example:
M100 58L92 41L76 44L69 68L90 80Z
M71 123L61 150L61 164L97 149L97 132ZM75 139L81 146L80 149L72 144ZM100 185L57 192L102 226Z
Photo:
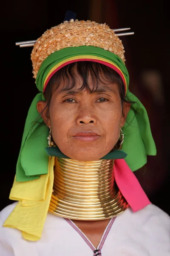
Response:
M132 172L156 148L122 41L70 20L37 40L31 60L40 93L10 193L18 202L0 213L2 255L169 255L170 217Z

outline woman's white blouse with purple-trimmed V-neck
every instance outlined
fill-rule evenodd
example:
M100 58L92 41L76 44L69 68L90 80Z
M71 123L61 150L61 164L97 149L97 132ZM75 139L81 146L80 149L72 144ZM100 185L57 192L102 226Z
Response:
M112 218L97 248L71 220L51 213L40 240L23 239L3 227L15 205L0 212L0 256L170 256L170 216L153 204Z

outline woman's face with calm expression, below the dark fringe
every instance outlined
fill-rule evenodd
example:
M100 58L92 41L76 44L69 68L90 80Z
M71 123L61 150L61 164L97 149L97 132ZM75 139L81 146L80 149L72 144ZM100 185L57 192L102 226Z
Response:
M93 88L91 76L88 83ZM119 87L114 83L99 84L98 90L90 93L79 91L81 86L78 74L73 89L62 90L61 80L52 93L49 117L44 111L42 118L51 126L53 140L63 154L79 161L98 160L111 151L119 139L121 125L125 124ZM40 113L45 105L46 102L38 102ZM129 106L124 108L126 113Z

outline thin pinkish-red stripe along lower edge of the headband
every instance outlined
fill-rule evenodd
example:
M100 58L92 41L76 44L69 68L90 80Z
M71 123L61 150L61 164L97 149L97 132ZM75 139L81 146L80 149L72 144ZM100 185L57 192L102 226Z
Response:
M51 79L51 76L53 76L54 73L56 73L56 72L57 72L58 70L60 70L62 67L65 67L66 65L71 64L71 63L73 63L73 62L77 62L77 61L94 61L94 62L98 62L98 63L104 64L105 66L110 67L111 69L115 70L115 71L120 75L120 77L122 78L122 81L123 81L123 83L124 83L124 85L125 85L125 94L126 94L126 90L127 90L127 89L126 89L126 81L125 81L125 78L124 78L123 74L121 73L121 71L120 71L117 67L115 67L114 65L112 65L112 64L110 64L110 63L108 63L108 62L100 61L100 60L94 60L94 59L90 59L90 58L88 58L88 59L82 58L82 59L67 61L67 62L63 63L61 66L57 67L57 68L56 68L55 70L53 70L53 72L51 72L51 74L48 76L48 79L47 79L47 81L45 82L45 85L44 85L44 88L43 88L43 92L45 91L45 88L46 88L46 86L47 86L49 80Z

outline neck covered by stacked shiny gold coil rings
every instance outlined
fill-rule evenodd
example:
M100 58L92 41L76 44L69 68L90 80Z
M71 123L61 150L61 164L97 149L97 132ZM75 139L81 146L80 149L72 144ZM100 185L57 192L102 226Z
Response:
M76 220L102 220L123 212L128 204L114 181L113 163L56 157L49 211Z

